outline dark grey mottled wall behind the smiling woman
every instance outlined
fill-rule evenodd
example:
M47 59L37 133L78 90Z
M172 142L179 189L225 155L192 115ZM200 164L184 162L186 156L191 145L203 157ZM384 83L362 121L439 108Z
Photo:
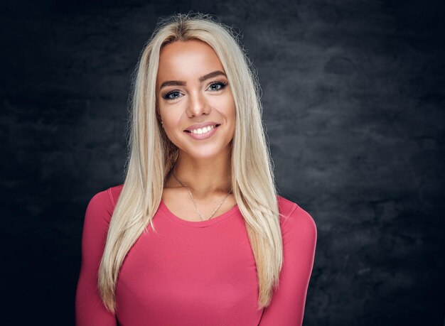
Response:
M193 10L242 32L280 195L317 224L304 325L444 325L443 1L122 2L3 2L1 324L73 323L132 70L159 17Z

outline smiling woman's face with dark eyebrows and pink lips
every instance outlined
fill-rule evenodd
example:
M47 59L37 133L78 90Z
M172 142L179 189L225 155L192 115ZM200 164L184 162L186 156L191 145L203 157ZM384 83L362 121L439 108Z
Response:
M164 45L156 79L156 109L180 155L214 158L227 154L235 134L235 102L223 65L207 43ZM198 130L195 124L216 128ZM193 133L193 129L195 133Z

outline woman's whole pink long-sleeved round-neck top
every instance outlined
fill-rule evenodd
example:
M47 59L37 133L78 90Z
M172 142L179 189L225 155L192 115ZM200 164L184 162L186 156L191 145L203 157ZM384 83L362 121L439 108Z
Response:
M253 251L236 205L218 217L191 222L173 215L163 201L130 249L119 272L117 313L97 291L97 269L107 227L122 185L97 193L87 206L82 266L75 298L76 325L262 325L303 322L316 249L316 224L296 203L277 196L284 245L279 289L257 311Z

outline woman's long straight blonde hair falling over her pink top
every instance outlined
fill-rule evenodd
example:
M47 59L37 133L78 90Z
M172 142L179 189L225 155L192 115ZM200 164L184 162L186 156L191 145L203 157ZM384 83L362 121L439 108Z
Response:
M140 55L133 80L126 177L109 223L98 272L102 301L112 313L116 311L119 269L148 224L154 229L152 219L161 202L166 175L178 158L178 148L163 132L156 116L159 52L166 43L191 39L203 40L215 50L235 99L232 191L245 219L257 266L258 310L270 304L278 286L282 234L256 72L231 28L202 13L179 13L159 23Z

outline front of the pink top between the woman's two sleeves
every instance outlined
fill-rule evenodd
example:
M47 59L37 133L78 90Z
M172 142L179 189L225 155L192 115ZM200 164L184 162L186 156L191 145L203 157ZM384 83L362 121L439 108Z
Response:
M244 220L193 228L155 216L127 255L117 283L117 313L128 325L255 325L258 283ZM172 224L173 223L173 224ZM139 318L137 321L134 318ZM124 322L122 322L125 325Z

